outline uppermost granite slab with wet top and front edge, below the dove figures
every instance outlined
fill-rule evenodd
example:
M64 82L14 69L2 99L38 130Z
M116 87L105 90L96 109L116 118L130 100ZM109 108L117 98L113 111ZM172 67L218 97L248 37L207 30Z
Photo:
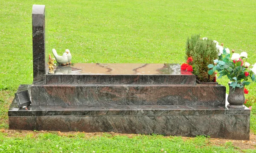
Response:
M195 84L179 64L90 64L57 66L47 84Z

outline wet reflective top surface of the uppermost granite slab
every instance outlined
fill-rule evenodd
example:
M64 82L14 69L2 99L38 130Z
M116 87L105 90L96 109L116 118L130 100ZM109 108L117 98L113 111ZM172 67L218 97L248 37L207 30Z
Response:
M67 66L58 65L55 75L180 75L180 64L90 64L76 63ZM186 75L192 75L191 72Z

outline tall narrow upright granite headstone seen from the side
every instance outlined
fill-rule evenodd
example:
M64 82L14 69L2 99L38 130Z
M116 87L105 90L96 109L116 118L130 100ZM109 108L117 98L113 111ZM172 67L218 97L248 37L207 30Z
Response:
M45 41L45 6L33 5L32 30L33 30L33 84L45 84L48 72L47 52Z

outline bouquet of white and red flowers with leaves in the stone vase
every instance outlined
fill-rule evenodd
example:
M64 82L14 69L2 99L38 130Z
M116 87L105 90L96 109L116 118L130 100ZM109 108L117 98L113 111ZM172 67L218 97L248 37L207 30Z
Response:
M212 75L214 71L219 72L218 78L227 75L227 78L231 81L230 86L243 88L245 85L249 85L251 82L256 81L256 63L250 68L250 64L247 62L248 55L246 52L233 53L230 57L230 49L223 48L218 45L216 41L216 48L219 50L218 58L214 60L214 64L209 64L209 75ZM251 80L251 82L250 82ZM244 89L244 93L248 93L247 89Z

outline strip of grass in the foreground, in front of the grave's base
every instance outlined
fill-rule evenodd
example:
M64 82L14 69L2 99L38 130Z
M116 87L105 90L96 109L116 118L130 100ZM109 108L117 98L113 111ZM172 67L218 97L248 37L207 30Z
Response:
M7 137L0 133L0 152L3 153L253 153L234 147L232 141L218 146L204 137L183 139L160 135L120 136L103 133L102 136L75 133L29 133L27 136ZM7 138L6 138L7 137ZM36 143L35 143L36 142Z

